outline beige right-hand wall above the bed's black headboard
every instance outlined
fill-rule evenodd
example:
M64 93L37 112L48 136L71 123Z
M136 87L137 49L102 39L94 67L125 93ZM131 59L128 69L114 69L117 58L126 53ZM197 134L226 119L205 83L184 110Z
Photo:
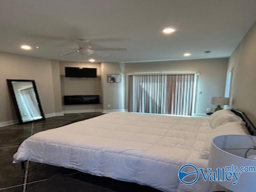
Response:
M232 69L231 107L256 125L256 23L230 56L228 71Z

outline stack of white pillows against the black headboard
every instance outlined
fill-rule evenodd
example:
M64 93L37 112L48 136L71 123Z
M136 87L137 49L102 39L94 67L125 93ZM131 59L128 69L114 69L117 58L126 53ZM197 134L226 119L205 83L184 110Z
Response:
M242 118L230 110L218 110L208 119L212 130L208 133L200 158L209 159L212 140L220 135L248 135L249 132Z

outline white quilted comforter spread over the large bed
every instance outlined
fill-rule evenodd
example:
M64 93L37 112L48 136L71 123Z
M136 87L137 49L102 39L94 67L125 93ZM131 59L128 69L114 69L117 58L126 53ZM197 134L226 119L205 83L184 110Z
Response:
M46 130L26 139L14 162L31 160L165 192L209 192L202 178L178 179L184 164L207 167L199 158L210 126L207 118L113 112Z

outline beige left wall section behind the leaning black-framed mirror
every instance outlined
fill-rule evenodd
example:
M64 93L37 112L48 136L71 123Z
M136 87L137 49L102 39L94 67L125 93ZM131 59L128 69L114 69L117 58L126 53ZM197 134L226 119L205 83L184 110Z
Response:
M44 113L55 112L51 61L0 52L0 125L17 119L6 79L35 80Z

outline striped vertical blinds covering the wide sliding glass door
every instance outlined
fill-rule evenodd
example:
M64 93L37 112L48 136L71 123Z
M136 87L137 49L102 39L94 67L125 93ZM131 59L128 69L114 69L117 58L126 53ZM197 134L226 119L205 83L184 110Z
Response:
M130 112L191 116L194 74L129 76Z

